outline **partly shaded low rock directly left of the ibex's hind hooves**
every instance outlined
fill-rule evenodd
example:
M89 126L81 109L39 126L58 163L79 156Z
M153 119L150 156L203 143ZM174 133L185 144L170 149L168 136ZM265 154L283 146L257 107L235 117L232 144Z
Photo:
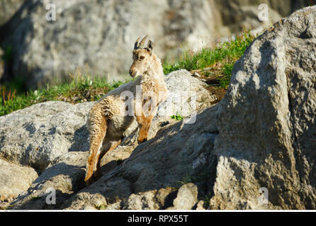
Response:
M24 210L57 209L72 194L84 188L86 152L69 152L57 157L31 184L28 191L11 203L11 208ZM52 192L55 203L47 202ZM48 196L48 198L47 198Z

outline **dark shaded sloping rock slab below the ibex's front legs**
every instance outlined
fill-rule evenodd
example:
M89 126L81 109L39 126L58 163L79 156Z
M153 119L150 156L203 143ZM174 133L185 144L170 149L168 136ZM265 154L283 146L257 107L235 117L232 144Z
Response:
M137 145L121 165L79 191L62 208L93 206L98 201L94 194L102 194L108 206L121 202L120 208L125 209L173 206L176 187L184 178L205 182L215 176L216 111L213 107L201 112L195 124L180 121L163 127L155 138ZM201 156L205 160L197 160ZM193 165L193 162L197 163ZM206 190L208 186L203 184L201 187Z

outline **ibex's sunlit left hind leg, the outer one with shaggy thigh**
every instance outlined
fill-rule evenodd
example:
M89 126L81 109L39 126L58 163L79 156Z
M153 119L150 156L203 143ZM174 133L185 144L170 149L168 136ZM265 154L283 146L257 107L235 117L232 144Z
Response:
M107 119L102 115L101 109L98 108L98 105L94 105L88 116L90 148L88 161L86 162L86 177L84 178L86 185L94 182L93 174L96 169L97 157L101 150L103 138L106 136L106 121Z

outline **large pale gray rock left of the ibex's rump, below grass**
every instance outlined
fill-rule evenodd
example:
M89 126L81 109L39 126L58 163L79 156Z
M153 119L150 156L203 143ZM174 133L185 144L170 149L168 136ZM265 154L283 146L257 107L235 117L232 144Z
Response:
M88 150L92 102L43 102L0 117L0 156L43 171L69 150Z

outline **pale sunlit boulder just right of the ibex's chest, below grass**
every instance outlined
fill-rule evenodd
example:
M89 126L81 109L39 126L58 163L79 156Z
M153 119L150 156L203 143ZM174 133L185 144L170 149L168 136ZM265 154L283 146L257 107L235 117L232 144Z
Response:
M149 138L153 138L163 125L174 123L176 120L171 119L172 116L180 115L186 123L194 123L198 112L220 101L205 83L193 78L191 73L184 69L169 73L165 76L165 81L169 96L159 106L149 130Z

